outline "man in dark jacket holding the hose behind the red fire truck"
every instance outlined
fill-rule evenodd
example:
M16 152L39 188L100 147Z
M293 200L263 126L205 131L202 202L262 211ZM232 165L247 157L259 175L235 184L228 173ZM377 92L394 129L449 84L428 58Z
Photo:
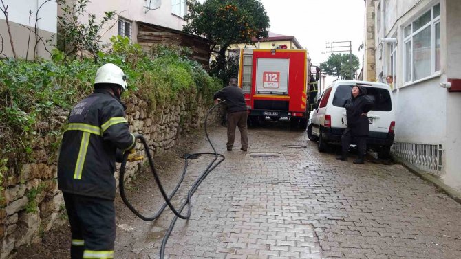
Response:
M232 151L235 139L235 127L239 127L240 142L242 148L240 150L246 151L248 149L248 132L246 127L246 120L248 118L248 110L244 98L244 92L237 85L237 78L230 78L229 85L217 91L213 96L216 101L218 99L225 100L224 104L227 106L227 150Z

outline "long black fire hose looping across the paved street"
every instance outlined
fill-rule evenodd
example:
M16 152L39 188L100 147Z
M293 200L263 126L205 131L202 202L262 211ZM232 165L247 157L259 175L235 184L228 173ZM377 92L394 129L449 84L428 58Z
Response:
M222 102L224 102L224 101L222 101ZM208 136L208 131L207 131L207 128L206 128L206 126L207 126L206 124L208 122L208 115L210 115L211 111L213 111L213 109L215 109L219 104L222 104L222 102L219 102L218 104L215 104L213 107L211 107L211 109L208 110L208 112L206 113L206 116L205 116L204 131L205 131L206 139L208 139L208 143L210 144L211 148L213 149L213 153L193 153L193 154L184 155L185 163L184 163L184 169L182 170L182 175L180 177L180 180L176 184L176 187L173 189L173 191L169 195L167 195L167 193L165 192L165 190L164 190L164 188L162 186L162 183L160 182L160 178L158 177L156 168L154 166L153 159L152 159L152 156L151 156L151 153L150 153L150 150L149 150L149 145L147 144L146 139L144 139L144 137L142 135L136 135L136 139L140 139L140 141L142 142L142 145L144 146L144 152L146 153L147 159L149 160L149 166L151 167L153 178L156 180L156 183L158 185L158 189L162 193L162 196L163 196L163 198L165 200L165 203L162 205L162 207L160 207L160 209L153 216L144 216L144 215L142 215L140 212L138 212L138 210L136 210L133 207L133 205L131 205L131 203L127 199L127 196L125 196L125 168L127 166L127 159L128 159L129 154L125 153L125 155L123 155L123 161L122 161L122 165L120 166L120 175L119 175L120 184L118 185L118 187L120 189L120 196L122 197L123 203L125 203L125 205L127 205L127 207L131 210L131 212L133 212L136 216L138 216L139 218L141 218L144 221L154 221L154 220L156 220L156 218L158 218L160 216L160 214L162 214L163 210L167 206L175 214L175 216L174 216L173 220L171 221L171 224L170 224L169 228L167 229L167 232L165 233L165 236L164 236L164 238L162 240L162 246L160 247L160 258L164 258L164 251L165 251L165 247L167 245L168 238L169 238L171 232L173 231L173 227L175 226L175 223L178 220L178 218L188 219L191 216L191 212L192 212L191 198L192 198L192 195L194 194L195 190L197 190L200 183L202 183L202 181L206 178L206 176L211 171L213 171L216 168L216 166L221 164L222 161L224 161L224 159L225 159L224 155L219 154L219 153L216 152L215 147L213 146L213 143L211 142L211 139ZM176 210L175 207L173 206L173 204L171 204L171 199L173 198L173 196L176 194L176 192L180 188L180 185L181 185L182 181L184 180L184 177L186 176L187 166L189 164L188 163L189 157L193 157L193 156L197 156L197 155L214 155L215 158L210 162L210 164L208 164L208 166L205 168L205 170L202 172L202 174L200 174L200 177L198 177L197 180L195 180L195 182L191 186L191 189L189 189L189 192L187 192L187 198L182 202L182 204L180 205L178 210ZM184 207L186 207L186 205L187 205L187 213L185 215L183 215L183 214L181 214L181 212L184 209Z

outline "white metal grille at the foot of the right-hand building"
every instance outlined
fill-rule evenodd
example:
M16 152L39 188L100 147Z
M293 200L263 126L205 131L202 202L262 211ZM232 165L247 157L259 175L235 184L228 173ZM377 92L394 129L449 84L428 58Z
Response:
M421 170L440 176L442 145L394 142L392 153Z

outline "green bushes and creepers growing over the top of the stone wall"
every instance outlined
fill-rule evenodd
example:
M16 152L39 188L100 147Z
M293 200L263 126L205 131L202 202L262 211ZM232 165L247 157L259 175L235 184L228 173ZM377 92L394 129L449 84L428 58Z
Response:
M50 140L45 147L49 161L56 159L64 124L50 122L50 118L58 109L69 111L92 92L96 70L104 63L123 69L130 90L124 95L147 100L151 111L186 93L202 95L211 103L211 94L222 87L220 80L208 76L189 58L190 49L156 45L147 54L127 38L117 36L111 42L109 52L98 52L98 63L94 58L65 60L56 49L52 60L0 60L1 185L11 176L8 174L20 174L21 164L34 161L34 149L43 149L37 144L40 137Z

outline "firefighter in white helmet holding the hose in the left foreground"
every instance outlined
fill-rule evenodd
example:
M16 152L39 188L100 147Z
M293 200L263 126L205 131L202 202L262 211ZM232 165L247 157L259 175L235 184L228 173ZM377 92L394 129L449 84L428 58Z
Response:
M103 65L96 72L94 92L68 117L58 159L58 188L69 216L71 258L114 258L116 156L120 161L122 151L130 150L129 161L142 159L133 153L136 139L120 101L126 80L120 67Z

